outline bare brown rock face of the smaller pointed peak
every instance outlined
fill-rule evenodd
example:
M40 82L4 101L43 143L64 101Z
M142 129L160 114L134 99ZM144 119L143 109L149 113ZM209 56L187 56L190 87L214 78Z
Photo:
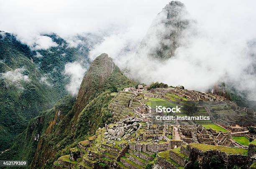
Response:
M101 91L114 70L115 64L106 53L102 53L92 62L77 94L77 102L74 106L76 117L86 104Z

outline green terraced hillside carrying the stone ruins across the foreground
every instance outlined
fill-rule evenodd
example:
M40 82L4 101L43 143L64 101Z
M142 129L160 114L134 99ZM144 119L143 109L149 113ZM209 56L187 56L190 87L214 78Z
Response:
M135 111L138 107L153 107L154 102L186 107L190 104L186 101L185 97L168 92L125 88L115 93L108 107L115 123L106 124L97 129L94 136L76 144L69 154L54 162L54 167L190 169L196 165L202 168L214 165L232 168L252 164L248 161L248 157L252 156L248 154L248 147L236 143L230 132L214 123L203 126L192 121L187 121L189 125L180 126L167 122L154 123L144 121L144 116ZM143 113L154 112L143 110ZM195 113L208 114L202 104L197 105ZM179 140L175 139L176 134L179 134ZM221 164L214 164L216 158Z

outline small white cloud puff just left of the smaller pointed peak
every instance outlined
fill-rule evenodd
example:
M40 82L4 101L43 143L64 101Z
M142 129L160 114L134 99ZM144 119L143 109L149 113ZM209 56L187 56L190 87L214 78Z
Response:
M86 69L79 62L69 62L65 65L64 74L70 76L70 82L66 88L73 96L77 95L85 72Z

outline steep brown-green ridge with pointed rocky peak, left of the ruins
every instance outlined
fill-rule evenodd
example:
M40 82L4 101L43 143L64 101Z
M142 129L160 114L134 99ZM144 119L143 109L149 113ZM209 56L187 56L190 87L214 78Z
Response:
M110 68L109 72L106 71L108 68ZM99 80L103 82L102 85L91 85L99 82ZM66 102L65 105L69 105L67 106L67 113L62 114L63 116L60 119L56 115L61 110L59 108L53 108L43 113L44 122L39 127L41 128L39 139L36 138L35 140L34 137L34 134L38 134L38 127L29 125L15 139L13 147L0 155L0 159L5 157L11 159L17 159L17 157L28 158L30 162L32 161L30 163L31 168L51 168L53 162L63 154L67 154L70 147L94 134L98 127L113 122L112 114L109 113L107 108L113 98L111 92L134 85L136 85L136 82L125 77L107 54L100 55L92 62L77 97L77 100L88 98L87 102L81 102L81 105L79 105L77 103L71 104L65 101L66 99L62 99L59 103ZM82 111L77 111L76 107L79 107ZM53 115L54 112L55 115ZM37 123L38 118L40 117L34 119L32 124ZM33 134L26 134L29 131ZM19 142L26 144L20 148ZM33 148L31 149L31 147ZM22 151L24 149L30 149L31 151L24 152ZM20 151L15 153L15 150Z

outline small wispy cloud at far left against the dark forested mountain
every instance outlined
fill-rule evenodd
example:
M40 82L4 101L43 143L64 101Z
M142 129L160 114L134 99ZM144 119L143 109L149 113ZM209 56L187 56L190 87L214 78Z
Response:
M2 77L6 80L10 80L12 83L20 82L21 80L29 82L29 78L27 75L23 75L24 68L18 68L15 70L10 70L5 73L1 73Z

